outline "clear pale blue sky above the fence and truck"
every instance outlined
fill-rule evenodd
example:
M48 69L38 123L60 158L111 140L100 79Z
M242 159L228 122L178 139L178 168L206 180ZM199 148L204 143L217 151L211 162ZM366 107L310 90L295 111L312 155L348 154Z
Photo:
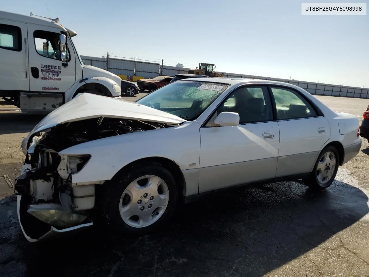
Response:
M1 1L0 10L49 16L45 2ZM209 62L222 72L369 87L368 15L302 16L296 0L46 3L77 32L80 55Z

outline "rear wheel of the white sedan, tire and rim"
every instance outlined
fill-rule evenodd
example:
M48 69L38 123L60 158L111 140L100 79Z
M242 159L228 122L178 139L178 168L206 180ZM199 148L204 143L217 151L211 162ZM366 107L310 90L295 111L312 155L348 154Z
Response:
M303 179L303 182L311 189L317 191L324 190L334 181L338 166L339 155L337 149L333 146L327 146L319 154L310 176Z

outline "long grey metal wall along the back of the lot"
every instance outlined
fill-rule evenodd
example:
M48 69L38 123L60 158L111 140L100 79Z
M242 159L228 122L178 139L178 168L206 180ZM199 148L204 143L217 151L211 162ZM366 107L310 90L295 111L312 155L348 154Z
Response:
M97 58L89 56L81 56L81 58L83 61L85 61L85 64L87 65L93 65L99 68L106 69L105 58ZM134 75L134 64L135 62L133 60L109 58L108 71L114 74L127 75L132 77ZM189 69L190 68L180 68L168 65L163 65L163 68L161 68L161 65L159 63L136 61L136 76L142 76L144 78L154 78L158 76L160 72L161 75L175 76L176 74L179 73L188 73ZM271 78L265 76L228 73L228 72L224 72L224 77L280 81L299 86L300 88L307 90L313 95L330 95L330 96L344 96L344 97L369 99L368 88L339 86L332 84L304 82L280 78Z

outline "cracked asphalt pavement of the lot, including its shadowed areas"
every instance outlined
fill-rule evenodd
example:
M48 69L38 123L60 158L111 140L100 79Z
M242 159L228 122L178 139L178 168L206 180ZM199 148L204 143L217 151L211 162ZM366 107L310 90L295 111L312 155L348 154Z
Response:
M368 106L364 99L318 98L358 118ZM0 276L369 276L366 140L324 192L300 182L235 188L179 206L149 236L128 238L94 227L28 243L13 189L2 176L14 181L20 173L21 138L40 118L1 113L2 107Z

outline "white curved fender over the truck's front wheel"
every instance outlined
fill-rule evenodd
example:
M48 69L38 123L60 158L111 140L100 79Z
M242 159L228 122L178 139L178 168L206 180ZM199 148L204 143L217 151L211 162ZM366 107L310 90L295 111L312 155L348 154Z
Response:
M86 86L87 84L90 84L90 83L96 83L101 86L104 86L110 92L110 96L120 96L122 94L120 84L113 81L112 79L97 76L97 77L92 77L92 78L85 78L85 79L80 80L79 82L76 82L65 93L65 102L70 101L76 95L76 93L78 93L79 89L82 89L83 86Z

